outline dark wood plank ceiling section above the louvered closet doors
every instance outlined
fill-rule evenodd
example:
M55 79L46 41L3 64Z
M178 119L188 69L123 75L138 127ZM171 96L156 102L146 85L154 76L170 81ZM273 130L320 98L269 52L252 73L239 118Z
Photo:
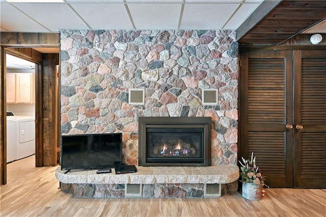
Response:
M257 20L252 29L245 21L237 30L237 41L241 44L278 45L326 18L326 1L279 2L265 17ZM262 13L262 8L258 7L248 18L247 25L254 16L262 16Z

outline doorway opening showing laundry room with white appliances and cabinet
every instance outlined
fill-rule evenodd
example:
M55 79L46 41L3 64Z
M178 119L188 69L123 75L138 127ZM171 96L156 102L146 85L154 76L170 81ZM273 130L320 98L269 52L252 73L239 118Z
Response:
M6 53L7 164L35 154L35 63Z

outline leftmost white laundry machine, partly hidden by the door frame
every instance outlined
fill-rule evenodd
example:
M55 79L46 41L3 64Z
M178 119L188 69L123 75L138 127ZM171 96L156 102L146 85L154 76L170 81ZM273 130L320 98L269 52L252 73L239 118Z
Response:
M7 162L16 160L16 121L7 117Z

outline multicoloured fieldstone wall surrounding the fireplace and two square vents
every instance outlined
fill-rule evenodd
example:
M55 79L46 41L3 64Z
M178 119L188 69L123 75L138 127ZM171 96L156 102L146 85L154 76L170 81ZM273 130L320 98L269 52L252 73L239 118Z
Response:
M235 31L61 31L62 134L123 133L138 165L138 117L211 117L212 165L237 163ZM145 105L128 104L145 89ZM203 105L202 89L218 89Z

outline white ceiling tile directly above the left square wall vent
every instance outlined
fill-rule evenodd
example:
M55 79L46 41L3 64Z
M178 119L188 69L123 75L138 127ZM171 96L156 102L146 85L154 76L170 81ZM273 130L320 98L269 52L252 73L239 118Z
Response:
M128 4L136 29L177 29L180 4Z

